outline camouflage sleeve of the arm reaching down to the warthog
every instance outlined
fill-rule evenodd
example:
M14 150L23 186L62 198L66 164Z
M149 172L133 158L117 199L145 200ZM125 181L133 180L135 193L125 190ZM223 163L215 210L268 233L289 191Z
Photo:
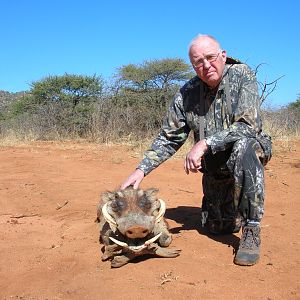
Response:
M183 99L176 93L163 122L161 132L153 141L144 158L138 165L145 175L170 158L186 141L190 128L186 123Z

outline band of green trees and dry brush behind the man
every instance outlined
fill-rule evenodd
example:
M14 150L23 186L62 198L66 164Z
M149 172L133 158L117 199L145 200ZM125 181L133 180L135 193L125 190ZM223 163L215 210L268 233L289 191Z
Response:
M96 75L65 74L33 82L28 92L0 91L0 139L148 145L172 96L192 76L183 60L162 59L123 66L111 82ZM299 137L299 95L285 107L264 105L262 111L273 140Z

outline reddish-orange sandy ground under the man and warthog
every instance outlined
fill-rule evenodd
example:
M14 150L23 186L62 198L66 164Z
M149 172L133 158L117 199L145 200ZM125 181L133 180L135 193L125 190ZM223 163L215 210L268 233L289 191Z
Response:
M300 299L300 143L267 166L261 260L233 264L239 234L200 226L201 175L181 159L152 172L177 258L145 257L111 269L101 261L99 195L129 175L125 146L35 143L0 148L0 299Z

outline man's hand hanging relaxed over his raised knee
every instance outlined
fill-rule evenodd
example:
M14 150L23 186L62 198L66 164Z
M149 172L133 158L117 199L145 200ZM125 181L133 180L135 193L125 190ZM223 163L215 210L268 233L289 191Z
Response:
M194 145L185 157L184 170L186 174L189 174L190 171L196 173L201 169L201 157L207 150L208 146L205 140L201 140Z

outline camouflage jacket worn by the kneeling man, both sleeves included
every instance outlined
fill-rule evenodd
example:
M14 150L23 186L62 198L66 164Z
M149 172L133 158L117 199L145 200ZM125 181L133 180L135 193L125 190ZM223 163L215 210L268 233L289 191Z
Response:
M232 113L226 102L227 74ZM257 80L247 65L226 64L223 79L215 89L209 88L198 76L188 81L174 96L161 132L137 168L147 175L183 145L191 130L195 143L199 141L201 117L204 120L202 132L213 154L228 149L244 137L264 140ZM270 148L270 143L265 144Z

